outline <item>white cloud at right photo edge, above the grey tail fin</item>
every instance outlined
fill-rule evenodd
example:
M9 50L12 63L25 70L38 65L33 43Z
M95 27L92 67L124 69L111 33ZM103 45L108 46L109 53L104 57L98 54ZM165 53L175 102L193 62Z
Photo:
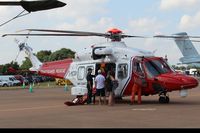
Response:
M192 30L200 27L200 11L194 16L184 15L179 23L179 29Z

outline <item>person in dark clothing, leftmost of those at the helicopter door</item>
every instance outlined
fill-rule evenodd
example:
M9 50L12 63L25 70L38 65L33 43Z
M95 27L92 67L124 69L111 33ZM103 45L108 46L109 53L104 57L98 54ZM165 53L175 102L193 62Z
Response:
M91 104L92 103L92 88L93 88L93 78L94 77L95 76L92 75L92 68L89 68L87 76L86 76L86 79L87 79L87 89L88 89L87 104Z

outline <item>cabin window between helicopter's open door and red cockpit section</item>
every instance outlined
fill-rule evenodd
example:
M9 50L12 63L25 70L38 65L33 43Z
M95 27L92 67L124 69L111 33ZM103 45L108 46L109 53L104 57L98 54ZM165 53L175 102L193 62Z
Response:
M128 65L127 64L119 64L118 65L118 78L124 79L128 76Z

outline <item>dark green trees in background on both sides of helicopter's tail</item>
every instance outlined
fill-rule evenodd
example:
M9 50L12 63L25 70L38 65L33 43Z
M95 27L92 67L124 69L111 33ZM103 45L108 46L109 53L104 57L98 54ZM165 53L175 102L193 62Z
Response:
M75 52L62 48L55 52L42 50L35 54L41 62L50 62L63 60L67 58L74 58ZM1 75L14 75L14 74L22 74L23 72L27 72L29 68L32 67L31 61L26 57L20 66L18 62L12 61L11 63L0 65L0 74Z

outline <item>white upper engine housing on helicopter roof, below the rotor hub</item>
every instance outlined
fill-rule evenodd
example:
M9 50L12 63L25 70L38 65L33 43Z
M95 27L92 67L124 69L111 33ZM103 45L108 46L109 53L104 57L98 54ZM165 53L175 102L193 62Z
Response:
M76 54L75 59L78 61L92 60L93 50L98 55L112 56L115 59L131 59L134 56L154 56L153 52L137 48L127 47L124 42L106 42L92 45Z

